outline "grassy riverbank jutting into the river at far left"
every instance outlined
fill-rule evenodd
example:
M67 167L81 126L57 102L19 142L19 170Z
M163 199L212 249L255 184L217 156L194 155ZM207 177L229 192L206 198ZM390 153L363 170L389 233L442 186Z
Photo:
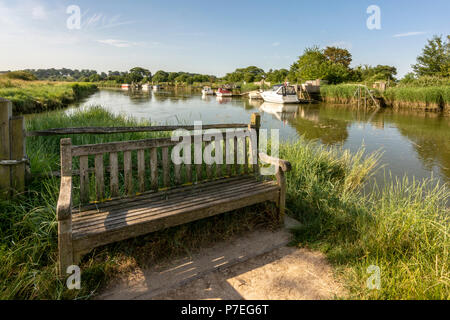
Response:
M0 77L0 97L12 101L14 114L67 108L97 90L92 83L20 81Z

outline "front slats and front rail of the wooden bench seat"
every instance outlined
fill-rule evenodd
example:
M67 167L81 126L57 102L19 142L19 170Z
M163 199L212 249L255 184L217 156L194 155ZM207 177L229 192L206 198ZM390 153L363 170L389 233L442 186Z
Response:
M128 211L124 209L114 214L107 214L106 218L99 220L88 228L79 229L77 222L73 221L74 248L77 251L83 251L107 243L120 241L130 236L147 234L170 226L176 226L238 209L243 206L267 200L276 201L279 197L278 185L269 182L260 183L258 188L247 189L246 192L236 188L234 189L235 192L232 191L233 189L225 192L226 188L222 188L222 192L210 195L209 198L206 193L204 195L200 194L192 199L169 199L162 201L153 208L150 207L148 211L143 210L138 216L134 217L128 217ZM205 201L205 198L207 201ZM177 206L177 203L180 206Z

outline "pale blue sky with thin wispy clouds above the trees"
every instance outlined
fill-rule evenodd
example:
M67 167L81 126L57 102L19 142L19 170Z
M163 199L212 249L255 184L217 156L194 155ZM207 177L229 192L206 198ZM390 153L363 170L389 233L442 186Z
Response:
M81 9L68 29L67 7ZM381 9L369 30L366 9ZM450 1L0 0L0 70L78 68L224 75L238 67L289 68L305 47L350 50L352 65L410 71L426 40L450 34Z

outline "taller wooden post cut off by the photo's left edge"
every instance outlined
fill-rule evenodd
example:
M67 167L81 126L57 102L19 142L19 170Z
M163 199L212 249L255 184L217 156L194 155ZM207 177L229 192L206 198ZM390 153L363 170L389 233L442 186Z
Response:
M0 98L0 161L10 160L9 120L12 116L11 101ZM11 168L0 165L0 198L7 199L11 195Z

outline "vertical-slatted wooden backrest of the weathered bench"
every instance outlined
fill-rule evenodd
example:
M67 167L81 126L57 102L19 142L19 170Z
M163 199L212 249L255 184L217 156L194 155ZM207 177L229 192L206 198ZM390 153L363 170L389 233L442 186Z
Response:
M217 127L223 129L224 125ZM185 132L179 140L168 137L72 146L71 139L62 139L61 175L74 177L74 203L81 205L216 178L257 174L259 115L252 115L249 125L233 128L220 130L222 134L219 130ZM184 163L174 163L172 152L183 157ZM204 154L215 158L211 161ZM220 157L223 161L216 163Z

